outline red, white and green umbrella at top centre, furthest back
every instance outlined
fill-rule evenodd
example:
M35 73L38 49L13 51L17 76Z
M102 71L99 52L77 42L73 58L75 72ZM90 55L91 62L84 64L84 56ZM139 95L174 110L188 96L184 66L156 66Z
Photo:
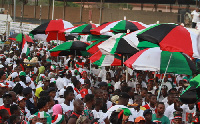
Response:
M145 25L143 25L140 22L118 20L102 24L101 26L91 30L90 32L94 35L104 35L105 33L110 32L112 30L116 32L125 33L128 29L130 31L136 31L144 28Z

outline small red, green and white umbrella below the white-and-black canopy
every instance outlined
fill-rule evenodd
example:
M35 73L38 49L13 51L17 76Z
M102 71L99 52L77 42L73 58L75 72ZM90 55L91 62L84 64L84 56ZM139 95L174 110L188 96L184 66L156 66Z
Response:
M121 66L121 57L117 54L102 54L101 51L96 52L90 58L91 62L98 66Z

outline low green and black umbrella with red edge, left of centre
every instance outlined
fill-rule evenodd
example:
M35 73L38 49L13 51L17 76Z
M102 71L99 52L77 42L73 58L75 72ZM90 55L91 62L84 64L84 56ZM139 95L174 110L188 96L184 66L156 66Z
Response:
M81 41L65 42L50 50L51 56L67 56L67 55L88 55L86 47L88 43Z

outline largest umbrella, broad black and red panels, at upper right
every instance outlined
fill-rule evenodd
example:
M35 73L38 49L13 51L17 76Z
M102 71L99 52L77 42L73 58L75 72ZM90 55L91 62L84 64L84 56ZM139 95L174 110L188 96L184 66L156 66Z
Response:
M199 33L176 24L157 24L144 29L137 35L139 41L158 44L161 50L183 52L199 58Z

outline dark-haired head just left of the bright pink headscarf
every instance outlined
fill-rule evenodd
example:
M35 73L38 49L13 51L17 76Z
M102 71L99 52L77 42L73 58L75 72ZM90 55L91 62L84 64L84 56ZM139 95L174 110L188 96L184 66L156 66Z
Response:
M40 97L37 102L37 107L40 111L47 112L49 109L47 97Z

